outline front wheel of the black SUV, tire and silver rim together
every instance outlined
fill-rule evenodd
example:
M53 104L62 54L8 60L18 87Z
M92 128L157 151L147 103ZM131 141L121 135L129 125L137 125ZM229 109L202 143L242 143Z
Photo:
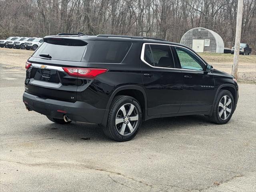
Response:
M217 95L210 121L216 124L229 122L234 112L234 97L228 90L220 90Z

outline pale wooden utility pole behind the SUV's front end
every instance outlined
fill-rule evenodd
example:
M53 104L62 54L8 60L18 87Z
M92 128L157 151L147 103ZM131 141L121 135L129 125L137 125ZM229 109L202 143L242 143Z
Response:
M236 16L236 40L235 40L235 50L234 50L234 63L232 66L232 75L238 78L238 56L240 50L240 40L241 40L241 28L242 28L242 14L243 14L243 0L238 0L237 4L237 16Z

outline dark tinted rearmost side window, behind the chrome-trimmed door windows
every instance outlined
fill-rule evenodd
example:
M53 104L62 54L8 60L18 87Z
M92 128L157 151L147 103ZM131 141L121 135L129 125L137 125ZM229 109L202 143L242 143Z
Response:
M120 63L131 46L131 42L95 41L89 62Z

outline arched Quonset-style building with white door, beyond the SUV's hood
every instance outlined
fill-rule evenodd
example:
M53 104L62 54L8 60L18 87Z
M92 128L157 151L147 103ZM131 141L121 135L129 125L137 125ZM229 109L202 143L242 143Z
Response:
M202 27L188 30L182 36L180 44L184 44L196 52L224 52L224 42L221 36L210 29Z

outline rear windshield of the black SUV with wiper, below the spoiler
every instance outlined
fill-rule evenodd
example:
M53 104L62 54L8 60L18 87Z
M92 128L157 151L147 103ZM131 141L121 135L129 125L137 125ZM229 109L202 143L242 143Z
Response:
M81 40L71 39L44 39L44 43L38 47L33 57L45 58L40 54L49 54L54 60L80 62L87 43Z

